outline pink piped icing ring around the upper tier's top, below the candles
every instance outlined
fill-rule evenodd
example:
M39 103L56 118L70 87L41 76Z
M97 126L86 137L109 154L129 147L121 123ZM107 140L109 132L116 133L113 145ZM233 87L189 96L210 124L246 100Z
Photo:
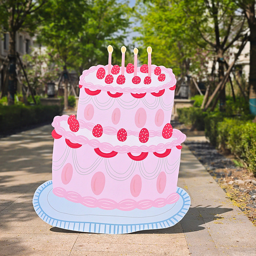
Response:
M155 76L154 75L154 70L157 66L156 65L151 65L151 67L152 67L151 73L153 73L152 76ZM114 86L113 87L113 85L110 85L110 84L101 85L101 84L92 84L90 82L86 83L86 78L85 77L88 76L90 73L98 70L99 68L104 68L106 70L106 72L108 71L108 65L106 65L106 66L98 65L98 66L92 66L91 68L84 70L83 74L80 76L79 84L84 86L85 88L89 88L92 91L102 90L102 91L105 91L105 92L110 91L110 92L122 92L122 93L159 92L163 89L169 89L170 87L172 87L176 84L176 79L175 79L174 74L172 73L172 69L171 68L165 68L164 66L159 66L159 67L161 68L161 70L164 70L166 73L169 74L169 78L171 79L170 82L168 82L166 84L163 84L163 85L153 86L153 87L149 87L149 88L148 87L142 87L142 88L124 87L124 88L122 88L122 87L119 87L119 86ZM125 71L126 71L126 68L125 68ZM140 72L140 67L137 67L137 74L138 73L139 74L141 73ZM168 78L168 77L166 77L166 78Z

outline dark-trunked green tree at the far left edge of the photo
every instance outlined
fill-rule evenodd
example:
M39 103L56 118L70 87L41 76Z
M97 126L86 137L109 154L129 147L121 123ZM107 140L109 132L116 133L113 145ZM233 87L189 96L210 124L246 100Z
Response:
M46 0L0 0L0 26L3 32L9 33L9 81L8 81L8 104L14 104L15 93L15 67L16 67L16 33L27 31L30 34L38 25L38 11Z

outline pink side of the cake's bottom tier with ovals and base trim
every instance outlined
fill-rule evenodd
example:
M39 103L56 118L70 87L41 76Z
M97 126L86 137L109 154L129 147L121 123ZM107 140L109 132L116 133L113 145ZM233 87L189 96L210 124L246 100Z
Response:
M53 193L105 210L146 210L173 204L179 199L176 189L180 152L179 147L174 147L168 149L168 155L111 154L87 144L70 148L63 137L55 139Z

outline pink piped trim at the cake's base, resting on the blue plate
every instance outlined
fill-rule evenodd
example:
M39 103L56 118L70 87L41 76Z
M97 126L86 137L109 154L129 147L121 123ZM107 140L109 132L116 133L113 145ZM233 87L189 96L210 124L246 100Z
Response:
M95 208L99 207L103 210L114 210L118 209L121 211L132 211L136 208L140 210L147 210L151 207L163 207L166 204L176 203L180 195L177 193L172 193L167 198L157 198L154 201L150 199L135 201L133 199L124 199L117 203L112 199L102 198L96 199L92 196L81 196L77 192L74 191L66 191L64 188L53 188L53 194L59 197L64 197L68 201L74 203L80 203L84 206Z

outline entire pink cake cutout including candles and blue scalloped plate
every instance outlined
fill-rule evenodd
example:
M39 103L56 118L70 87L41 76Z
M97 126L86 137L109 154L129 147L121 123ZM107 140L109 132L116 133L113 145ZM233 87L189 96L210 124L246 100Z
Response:
M84 70L77 116L56 116L52 180L33 204L47 223L70 230L122 234L175 225L190 198L177 187L181 143L170 124L176 79L151 63ZM143 81L143 82L141 82ZM169 89L169 90L168 90Z

